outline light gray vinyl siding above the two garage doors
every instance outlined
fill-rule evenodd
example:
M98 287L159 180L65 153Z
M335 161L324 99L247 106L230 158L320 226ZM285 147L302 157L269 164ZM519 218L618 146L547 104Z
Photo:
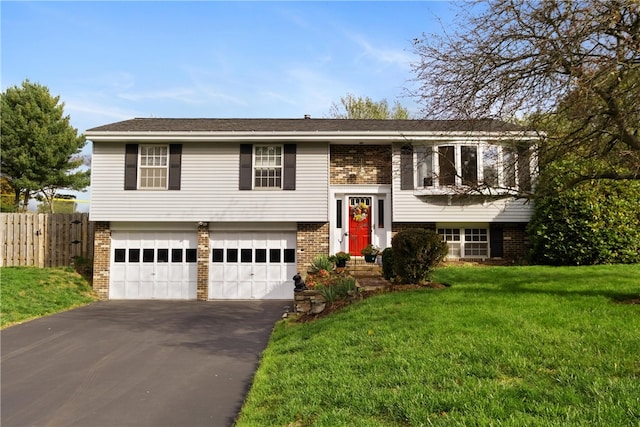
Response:
M93 221L326 222L329 145L297 144L296 190L240 191L239 143L185 142L180 190L125 191L125 142L94 142Z

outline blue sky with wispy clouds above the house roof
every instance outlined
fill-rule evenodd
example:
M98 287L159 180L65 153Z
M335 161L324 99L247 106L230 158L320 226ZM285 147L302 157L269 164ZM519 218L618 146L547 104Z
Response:
M347 93L418 114L411 41L451 3L0 4L2 90L29 79L79 132L134 117L327 117ZM90 152L90 145L85 152Z

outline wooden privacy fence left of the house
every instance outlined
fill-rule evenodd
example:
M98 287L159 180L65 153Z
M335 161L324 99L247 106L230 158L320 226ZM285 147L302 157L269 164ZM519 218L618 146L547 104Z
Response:
M93 258L89 214L2 213L2 266L59 267L73 257Z

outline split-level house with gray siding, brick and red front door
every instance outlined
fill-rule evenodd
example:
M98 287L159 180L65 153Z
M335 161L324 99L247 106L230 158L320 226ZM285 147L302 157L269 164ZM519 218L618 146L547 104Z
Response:
M150 118L85 134L103 298L289 299L316 255L411 227L454 259L524 255L532 207L511 193L531 185L536 136L515 125Z

